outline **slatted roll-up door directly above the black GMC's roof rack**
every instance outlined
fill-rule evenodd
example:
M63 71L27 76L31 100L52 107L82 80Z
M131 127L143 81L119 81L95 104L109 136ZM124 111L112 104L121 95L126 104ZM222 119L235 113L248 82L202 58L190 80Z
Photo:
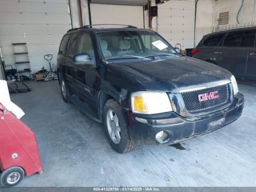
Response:
M125 24L144 28L142 6L90 4L90 8L92 24Z

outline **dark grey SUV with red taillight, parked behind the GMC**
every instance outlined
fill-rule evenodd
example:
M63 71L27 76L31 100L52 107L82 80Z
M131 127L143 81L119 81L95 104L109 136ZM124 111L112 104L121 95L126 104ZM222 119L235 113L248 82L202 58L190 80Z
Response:
M216 64L237 78L256 79L256 27L205 35L192 50L194 58Z

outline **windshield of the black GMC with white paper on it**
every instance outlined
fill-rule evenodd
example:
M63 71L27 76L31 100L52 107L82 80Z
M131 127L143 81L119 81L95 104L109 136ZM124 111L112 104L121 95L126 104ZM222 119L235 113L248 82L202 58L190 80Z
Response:
M155 32L127 30L98 32L98 40L105 60L116 59L155 59L178 57L178 54L166 40ZM160 58L163 59L163 58Z

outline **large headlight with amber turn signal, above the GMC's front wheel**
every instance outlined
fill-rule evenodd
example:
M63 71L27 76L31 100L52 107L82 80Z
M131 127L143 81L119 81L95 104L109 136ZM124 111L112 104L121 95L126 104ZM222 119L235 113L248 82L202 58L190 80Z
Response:
M138 91L131 95L132 112L157 114L172 111L166 92Z

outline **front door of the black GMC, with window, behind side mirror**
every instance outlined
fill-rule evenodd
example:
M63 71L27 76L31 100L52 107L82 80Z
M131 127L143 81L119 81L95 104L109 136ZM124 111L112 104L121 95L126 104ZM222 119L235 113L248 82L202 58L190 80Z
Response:
M95 61L94 46L90 33L80 33L77 54L80 53L88 54L92 61ZM91 64L74 64L74 68L78 97L90 106L96 107L96 88L100 86L98 71Z

